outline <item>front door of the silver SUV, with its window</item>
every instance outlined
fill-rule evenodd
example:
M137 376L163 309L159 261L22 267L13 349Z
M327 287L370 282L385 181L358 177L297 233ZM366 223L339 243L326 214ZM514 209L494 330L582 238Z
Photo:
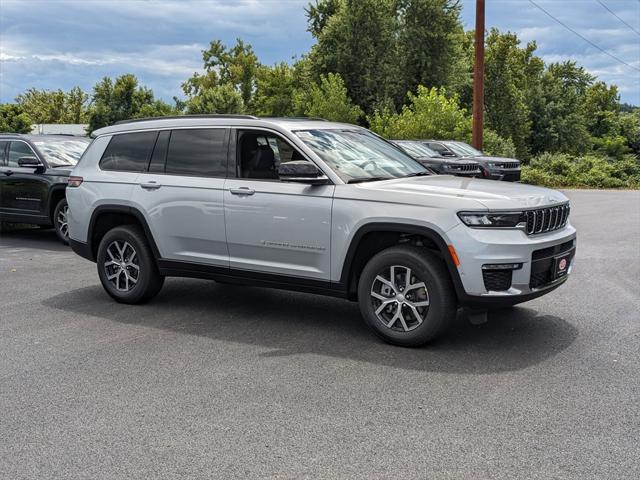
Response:
M231 268L328 281L334 186L280 181L280 163L308 159L275 133L234 133L235 178L224 188Z

